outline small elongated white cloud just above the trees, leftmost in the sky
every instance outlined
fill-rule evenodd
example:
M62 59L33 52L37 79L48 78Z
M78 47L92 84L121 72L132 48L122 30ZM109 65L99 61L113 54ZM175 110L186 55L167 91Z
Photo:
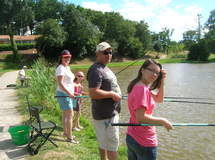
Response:
M111 12L111 11L113 11L111 9L110 4L108 4L108 3L98 4L96 2L83 2L82 6L84 8L89 8L89 9L93 9L93 10L97 10L97 11L102 11L102 12Z

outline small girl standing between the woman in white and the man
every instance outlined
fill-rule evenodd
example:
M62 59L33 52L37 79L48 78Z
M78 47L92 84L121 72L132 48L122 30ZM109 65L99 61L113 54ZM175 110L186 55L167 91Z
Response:
M82 85L83 80L84 80L84 73L77 72L75 74L75 79L74 79L75 96L82 96L85 94L84 86ZM82 101L82 98L76 98L76 100L75 100L76 105L75 105L75 108L73 109L75 111L74 119L73 119L73 130L74 131L80 131L81 129L83 129L83 127L80 125L81 101Z

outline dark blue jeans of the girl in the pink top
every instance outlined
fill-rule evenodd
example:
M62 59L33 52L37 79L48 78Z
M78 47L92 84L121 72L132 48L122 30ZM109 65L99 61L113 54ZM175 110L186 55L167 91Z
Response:
M141 146L135 139L127 134L128 160L156 160L157 147Z

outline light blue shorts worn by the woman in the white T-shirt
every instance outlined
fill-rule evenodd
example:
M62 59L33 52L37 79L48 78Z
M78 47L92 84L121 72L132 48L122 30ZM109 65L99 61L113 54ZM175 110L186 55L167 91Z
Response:
M57 97L57 101L60 105L61 110L68 110L76 107L75 100L68 97L66 93L56 91L56 96L67 96L67 97Z

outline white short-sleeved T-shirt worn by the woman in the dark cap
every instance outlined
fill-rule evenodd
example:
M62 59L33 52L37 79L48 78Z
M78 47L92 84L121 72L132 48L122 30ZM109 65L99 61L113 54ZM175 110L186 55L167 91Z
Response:
M63 76L63 84L65 86L65 88L67 90L69 90L71 92L71 94L74 94L74 79L75 76L74 74L71 72L69 66L64 66L62 64L60 64L57 69L56 69L56 73L55 73L56 77L57 76ZM60 92L64 92L66 93L57 83L57 91Z

